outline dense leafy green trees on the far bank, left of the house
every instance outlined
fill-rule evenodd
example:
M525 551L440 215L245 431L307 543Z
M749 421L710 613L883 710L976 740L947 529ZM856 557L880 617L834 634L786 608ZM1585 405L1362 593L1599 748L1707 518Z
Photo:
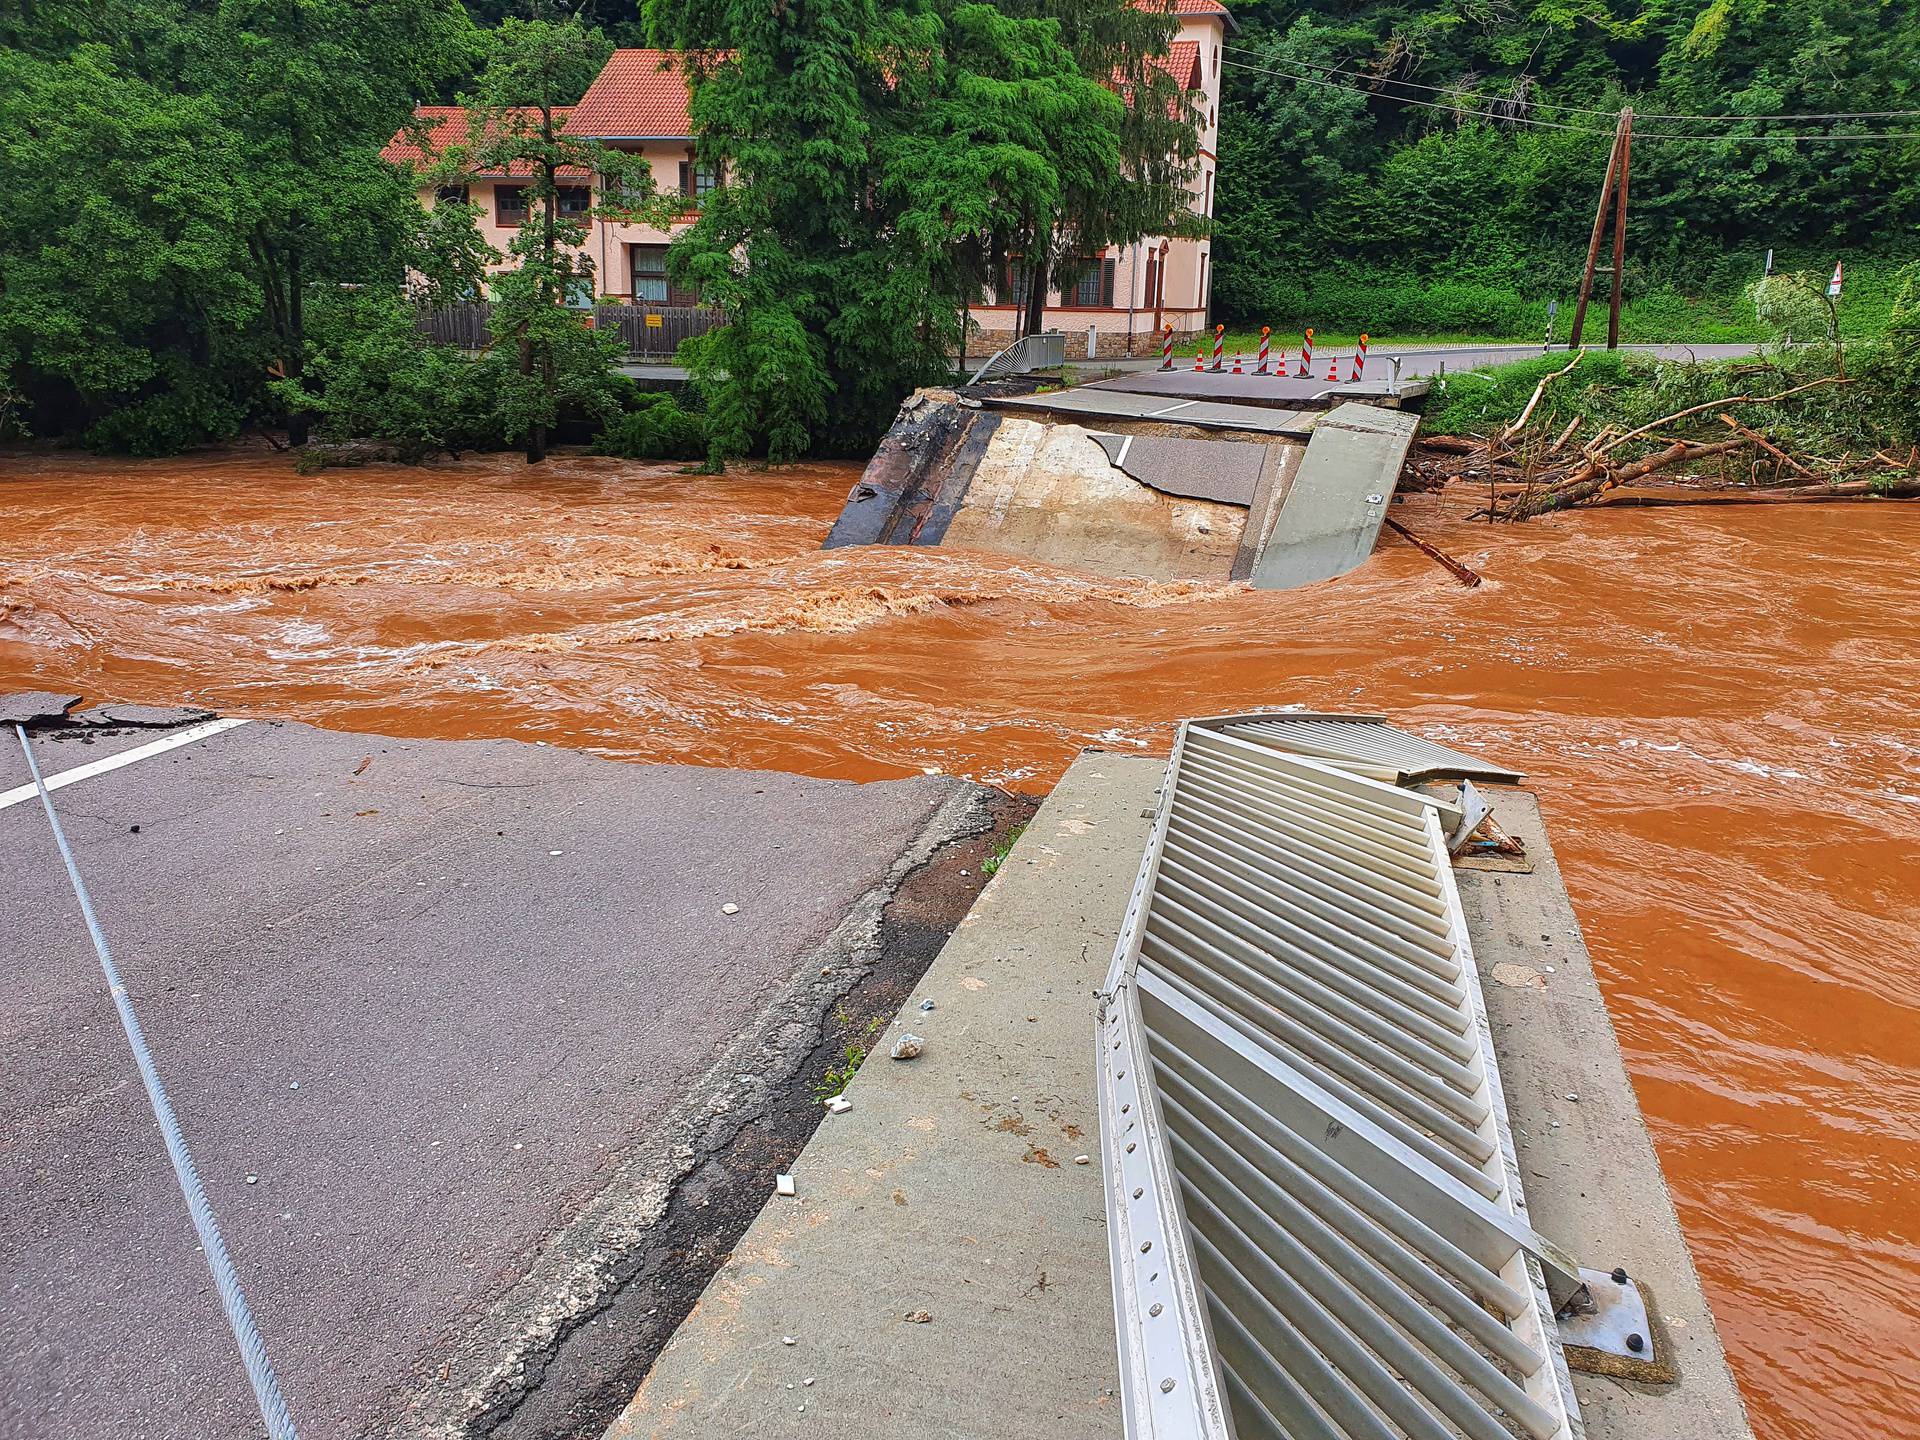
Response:
M378 150L467 63L455 0L100 0L6 27L0 186L31 202L0 217L0 365L36 428L232 434L300 378L313 294L445 273Z

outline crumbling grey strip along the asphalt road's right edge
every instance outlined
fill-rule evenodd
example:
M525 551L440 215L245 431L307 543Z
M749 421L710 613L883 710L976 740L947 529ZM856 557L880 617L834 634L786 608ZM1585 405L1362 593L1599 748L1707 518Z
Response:
M933 808L887 876L854 902L801 960L795 979L714 1060L691 1089L682 1119L609 1173L601 1190L549 1236L520 1277L442 1356L440 1371L417 1377L417 1392L382 1434L390 1440L488 1434L540 1384L547 1361L618 1294L634 1263L651 1248L680 1185L764 1116L804 1071L833 1006L872 970L887 906L908 876L945 847L991 829L993 791L954 783L954 793ZM770 1196L772 1173L764 1179ZM749 1221L753 1213L758 1212L749 1212Z

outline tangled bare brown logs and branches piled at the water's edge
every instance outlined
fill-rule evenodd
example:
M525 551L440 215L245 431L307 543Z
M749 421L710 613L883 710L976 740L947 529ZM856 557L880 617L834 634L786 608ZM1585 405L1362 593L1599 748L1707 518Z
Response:
M1807 390L1849 384L1845 376L1826 376L1774 396L1724 396L1634 430L1601 426L1580 444L1576 436L1584 417L1578 415L1559 434L1532 430L1528 422L1548 386L1578 363L1576 353L1565 369L1544 376L1526 409L1492 436L1419 438L1400 488L1440 490L1448 484L1484 482L1488 503L1475 518L1488 520L1528 520L1548 511L1594 503L1755 505L1920 495L1920 453L1891 455L1882 449L1837 459L1791 455L1740 420L1741 407L1772 405ZM1680 434L1703 428L1705 434ZM1701 461L1716 465L1701 468ZM1628 488L1649 482L1655 474L1659 480L1653 484L1684 493L1628 493Z

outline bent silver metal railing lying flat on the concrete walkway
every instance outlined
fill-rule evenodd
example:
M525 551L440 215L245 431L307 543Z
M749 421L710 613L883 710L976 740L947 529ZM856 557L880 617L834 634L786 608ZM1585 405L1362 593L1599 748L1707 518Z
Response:
M1235 720L1181 726L1100 1014L1127 1434L1574 1440L1450 806Z

